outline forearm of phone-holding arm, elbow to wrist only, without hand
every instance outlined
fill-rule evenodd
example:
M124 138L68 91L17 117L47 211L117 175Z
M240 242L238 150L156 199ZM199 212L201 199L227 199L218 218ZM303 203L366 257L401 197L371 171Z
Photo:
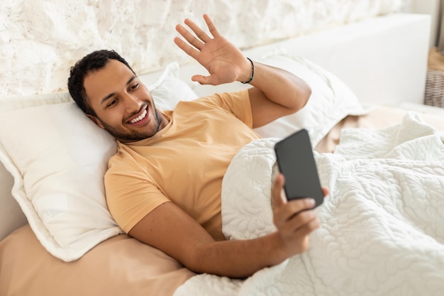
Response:
M278 234L274 233L257 239L216 241L196 246L186 265L197 273L245 278L288 257L289 254L282 251Z

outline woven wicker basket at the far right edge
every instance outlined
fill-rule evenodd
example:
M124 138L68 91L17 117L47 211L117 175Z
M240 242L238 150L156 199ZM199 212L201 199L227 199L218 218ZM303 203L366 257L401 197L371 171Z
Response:
M444 71L427 71L424 104L444 108Z

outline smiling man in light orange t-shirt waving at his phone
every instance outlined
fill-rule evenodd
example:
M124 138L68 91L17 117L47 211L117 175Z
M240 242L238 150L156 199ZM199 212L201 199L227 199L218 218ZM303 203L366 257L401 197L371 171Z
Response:
M221 231L221 182L252 128L301 109L311 89L298 77L243 56L204 15L212 38L189 19L174 43L209 71L201 84L248 82L252 88L180 102L160 111L119 55L100 50L72 67L70 94L98 126L116 137L106 199L113 218L135 239L169 254L196 273L244 278L308 248L319 221L313 199L287 202L278 175L272 188L273 234L226 241ZM324 190L326 193L326 190Z

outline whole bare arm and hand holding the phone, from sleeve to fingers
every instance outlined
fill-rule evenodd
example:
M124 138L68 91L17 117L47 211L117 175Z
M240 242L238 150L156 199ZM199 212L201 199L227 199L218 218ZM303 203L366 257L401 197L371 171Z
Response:
M308 248L308 235L319 221L311 199L285 202L279 175L272 190L277 231L258 239L214 241L191 216L167 202L129 232L135 239L159 248L196 273L245 278L260 268L278 264Z

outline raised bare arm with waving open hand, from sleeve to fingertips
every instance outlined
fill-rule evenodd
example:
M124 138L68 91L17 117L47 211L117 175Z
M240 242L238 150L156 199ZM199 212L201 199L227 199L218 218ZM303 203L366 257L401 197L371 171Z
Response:
M177 31L188 41L174 38L174 43L209 71L208 76L194 75L201 84L223 84L250 80L252 67L243 53L220 35L209 16L204 19L213 38L189 19L186 28L177 25ZM254 61L253 61L254 62ZM292 114L309 100L311 89L304 80L285 70L254 62L253 86L248 90L252 108L253 127L263 126L281 116Z

